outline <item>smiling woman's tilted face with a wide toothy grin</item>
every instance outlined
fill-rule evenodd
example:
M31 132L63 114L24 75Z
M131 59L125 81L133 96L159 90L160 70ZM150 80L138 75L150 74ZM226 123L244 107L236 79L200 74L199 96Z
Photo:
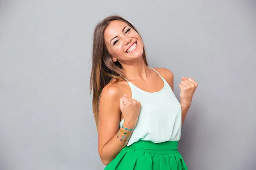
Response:
M113 62L131 61L142 57L143 42L140 35L127 23L114 20L104 32L105 44Z

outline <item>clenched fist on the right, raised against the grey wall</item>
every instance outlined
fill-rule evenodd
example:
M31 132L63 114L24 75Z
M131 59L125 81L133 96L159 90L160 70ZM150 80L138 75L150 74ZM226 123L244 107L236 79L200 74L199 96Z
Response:
M180 104L190 106L192 102L192 97L195 93L196 88L198 87L197 82L192 78L182 77L180 82Z

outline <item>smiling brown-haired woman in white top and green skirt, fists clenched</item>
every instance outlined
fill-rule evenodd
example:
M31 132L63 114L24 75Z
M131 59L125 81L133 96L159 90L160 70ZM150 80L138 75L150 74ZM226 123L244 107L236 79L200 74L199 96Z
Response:
M158 56L160 57L160 56ZM90 92L105 170L187 170L177 151L181 125L198 84L151 68L136 28L120 16L97 24Z

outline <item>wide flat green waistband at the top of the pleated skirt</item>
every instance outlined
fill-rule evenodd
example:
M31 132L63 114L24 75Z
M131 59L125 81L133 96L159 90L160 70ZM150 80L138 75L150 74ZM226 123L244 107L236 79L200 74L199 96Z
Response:
M179 141L166 141L162 143L154 143L151 141L140 140L131 144L130 146L127 146L126 148L154 154L173 154L178 151L178 142Z

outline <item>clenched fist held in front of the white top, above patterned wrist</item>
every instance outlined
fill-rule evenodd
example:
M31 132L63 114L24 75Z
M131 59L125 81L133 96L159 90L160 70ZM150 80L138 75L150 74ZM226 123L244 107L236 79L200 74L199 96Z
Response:
M140 114L141 103L134 99L129 99L126 95L120 99L120 110L125 119L126 126L135 127Z

